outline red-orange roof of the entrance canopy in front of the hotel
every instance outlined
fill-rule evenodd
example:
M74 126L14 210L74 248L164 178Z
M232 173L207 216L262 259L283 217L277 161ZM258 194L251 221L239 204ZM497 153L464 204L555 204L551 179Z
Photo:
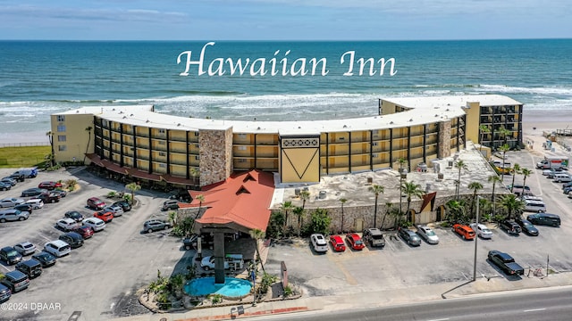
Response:
M189 191L193 201L181 203L181 208L197 207L197 195L202 194L208 208L197 222L202 226L243 226L246 229L266 230L270 219L270 203L274 193L271 173L251 170L233 174L223 184L211 185L207 190Z

